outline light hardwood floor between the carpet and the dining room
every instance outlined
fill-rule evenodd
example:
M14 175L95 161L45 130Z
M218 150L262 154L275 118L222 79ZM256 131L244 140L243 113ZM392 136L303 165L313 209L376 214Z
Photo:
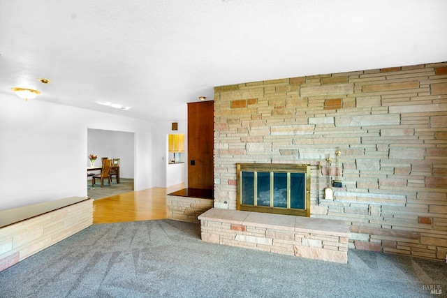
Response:
M120 223L166 218L166 194L179 191L184 184L169 188L149 188L94 200L93 223Z

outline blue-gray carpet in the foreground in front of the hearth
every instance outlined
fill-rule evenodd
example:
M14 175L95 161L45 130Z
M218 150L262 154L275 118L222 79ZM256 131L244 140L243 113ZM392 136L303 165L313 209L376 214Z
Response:
M430 295L430 286L441 295ZM447 264L349 251L347 265L200 240L168 219L92 225L0 272L0 297L446 297Z

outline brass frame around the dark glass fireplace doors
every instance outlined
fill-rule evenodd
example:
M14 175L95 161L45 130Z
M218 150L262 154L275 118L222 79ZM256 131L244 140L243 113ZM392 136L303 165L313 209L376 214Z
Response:
M273 173L305 173L305 206L304 209L293 209L283 207L264 207L249 204L242 204L242 172L270 172L272 183ZM295 163L236 163L237 177L237 210L256 211L274 214L286 214L295 216L310 216L310 165ZM290 174L287 175L288 185L290 185ZM256 183L255 183L256 184ZM255 186L256 187L256 186ZM256 190L255 190L256 193ZM270 189L272 200L273 190ZM290 201L290 190L288 190L288 205Z

